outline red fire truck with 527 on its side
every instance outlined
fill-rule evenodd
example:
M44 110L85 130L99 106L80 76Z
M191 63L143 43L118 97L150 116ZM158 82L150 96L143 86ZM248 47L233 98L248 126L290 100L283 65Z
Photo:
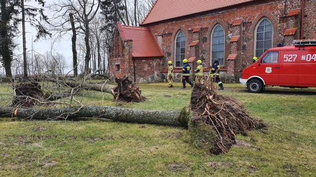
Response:
M316 87L316 40L297 40L294 46L268 49L242 71L239 82L254 93L269 86Z

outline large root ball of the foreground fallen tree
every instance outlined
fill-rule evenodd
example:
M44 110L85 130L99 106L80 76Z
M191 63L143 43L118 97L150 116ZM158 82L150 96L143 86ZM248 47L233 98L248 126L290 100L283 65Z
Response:
M191 96L192 120L189 130L197 147L208 148L211 154L227 153L237 134L266 125L252 118L235 98L217 94L211 79L196 84Z

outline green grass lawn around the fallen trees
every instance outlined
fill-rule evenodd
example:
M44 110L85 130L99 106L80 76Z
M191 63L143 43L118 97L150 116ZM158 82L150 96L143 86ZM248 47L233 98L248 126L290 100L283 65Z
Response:
M174 88L167 83L139 86L147 98L144 103L113 102L111 94L100 92L87 92L82 103L149 110L190 104L191 88L180 89L180 83ZM267 131L238 135L243 146L227 154L209 155L195 148L181 127L96 118L0 118L0 176L316 176L316 89L275 87L249 93L239 84L224 87L221 94L237 98L269 125ZM11 90L0 84L0 92Z

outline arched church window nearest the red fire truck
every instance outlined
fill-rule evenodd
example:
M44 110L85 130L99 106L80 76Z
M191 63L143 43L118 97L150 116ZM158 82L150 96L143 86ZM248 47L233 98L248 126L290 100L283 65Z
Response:
M272 48L273 28L267 18L263 18L255 29L255 56L259 58L266 50Z

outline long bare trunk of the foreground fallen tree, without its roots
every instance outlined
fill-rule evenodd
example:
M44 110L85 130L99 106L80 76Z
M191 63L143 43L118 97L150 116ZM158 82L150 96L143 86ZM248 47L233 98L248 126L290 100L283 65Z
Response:
M83 108L26 109L1 107L0 117L54 120L59 118L108 118L122 122L148 123L168 126L188 126L187 108L177 111L137 110L108 106Z

